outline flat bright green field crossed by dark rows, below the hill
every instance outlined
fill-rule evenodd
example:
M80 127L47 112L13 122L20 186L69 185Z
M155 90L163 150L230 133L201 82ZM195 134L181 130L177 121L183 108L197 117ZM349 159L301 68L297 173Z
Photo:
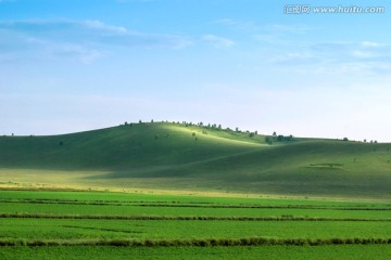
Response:
M1 259L388 259L381 202L0 191ZM266 217L266 218L263 218ZM316 246L315 246L316 245ZM344 257L345 256L345 257ZM54 257L54 258L53 258ZM358 258L360 257L360 258Z

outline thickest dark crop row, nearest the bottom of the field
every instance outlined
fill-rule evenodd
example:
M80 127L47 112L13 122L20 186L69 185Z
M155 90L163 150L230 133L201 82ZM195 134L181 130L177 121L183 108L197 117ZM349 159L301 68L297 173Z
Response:
M0 246L324 246L324 245L373 245L391 244L391 238L206 238L206 239L64 239L64 240L26 240L26 239L0 239Z

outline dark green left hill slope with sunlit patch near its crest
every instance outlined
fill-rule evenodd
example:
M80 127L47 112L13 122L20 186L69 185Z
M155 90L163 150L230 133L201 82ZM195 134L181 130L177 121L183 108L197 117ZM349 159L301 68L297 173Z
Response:
M192 129L143 123L65 135L3 136L0 138L0 165L36 169L139 170L228 156L255 147L240 139L217 138L213 133L200 133L199 128Z

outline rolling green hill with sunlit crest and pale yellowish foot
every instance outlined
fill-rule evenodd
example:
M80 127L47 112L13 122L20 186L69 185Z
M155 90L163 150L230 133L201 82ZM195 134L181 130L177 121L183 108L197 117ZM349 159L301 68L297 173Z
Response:
M0 182L391 198L391 144L265 136L184 123L131 123L1 136Z

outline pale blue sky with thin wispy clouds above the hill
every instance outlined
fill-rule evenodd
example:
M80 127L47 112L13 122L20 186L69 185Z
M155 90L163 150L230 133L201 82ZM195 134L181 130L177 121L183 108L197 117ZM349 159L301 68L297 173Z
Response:
M153 119L391 142L390 24L380 0L0 0L0 134Z

